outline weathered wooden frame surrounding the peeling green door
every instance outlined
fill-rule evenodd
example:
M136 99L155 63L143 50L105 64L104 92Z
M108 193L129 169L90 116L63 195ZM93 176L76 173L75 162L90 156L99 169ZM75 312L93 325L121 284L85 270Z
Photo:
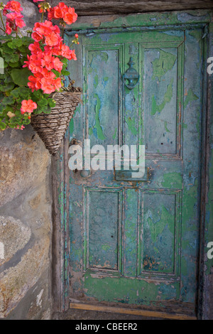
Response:
M132 27L140 30L150 30L155 27L165 28L187 28L189 26L205 26L204 36L204 59L213 56L213 23L211 23L212 11L172 11L134 14L127 16L88 16L80 17L77 23L72 25L72 31L93 31L99 29L109 31L121 31L124 27L130 31ZM166 22L166 26L165 26ZM121 28L122 27L122 28ZM209 33L207 33L209 32ZM213 227L211 225L213 209L211 198L213 180L212 175L213 135L211 137L211 126L213 127L213 115L210 114L213 107L213 74L207 75L207 62L204 62L203 80L203 109L202 109L202 161L201 161L201 185L200 185L200 263L199 263L199 287L197 293L197 318L207 318L208 301L207 289L208 279L211 274L211 261L207 260L207 242L213 241ZM52 242L52 263L53 263L53 311L66 311L69 308L69 222L68 222L68 148L69 129L65 135L60 151L52 158L53 172L53 242ZM212 199L213 200L213 199ZM207 233L209 232L209 233ZM212 240L209 239L212 236ZM210 301L212 302L212 301Z

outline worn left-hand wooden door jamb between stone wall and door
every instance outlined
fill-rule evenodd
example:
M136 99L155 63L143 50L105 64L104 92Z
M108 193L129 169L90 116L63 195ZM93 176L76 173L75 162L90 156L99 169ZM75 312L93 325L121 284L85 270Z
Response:
M55 156L52 156L53 238L52 238L52 296L53 313L69 307L69 233L68 233L68 156L67 133Z

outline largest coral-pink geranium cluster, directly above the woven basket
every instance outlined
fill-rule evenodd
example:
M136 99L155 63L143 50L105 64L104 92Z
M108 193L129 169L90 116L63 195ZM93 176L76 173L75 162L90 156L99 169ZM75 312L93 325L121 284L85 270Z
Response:
M70 50L62 43L60 29L50 21L35 23L32 38L35 42L29 45L31 55L28 55L26 65L23 65L33 73L28 77L28 87L32 92L41 89L45 94L50 94L61 87L60 77L56 78L52 70L61 72L62 58L76 60L75 50ZM45 45L44 50L41 50L39 42Z

